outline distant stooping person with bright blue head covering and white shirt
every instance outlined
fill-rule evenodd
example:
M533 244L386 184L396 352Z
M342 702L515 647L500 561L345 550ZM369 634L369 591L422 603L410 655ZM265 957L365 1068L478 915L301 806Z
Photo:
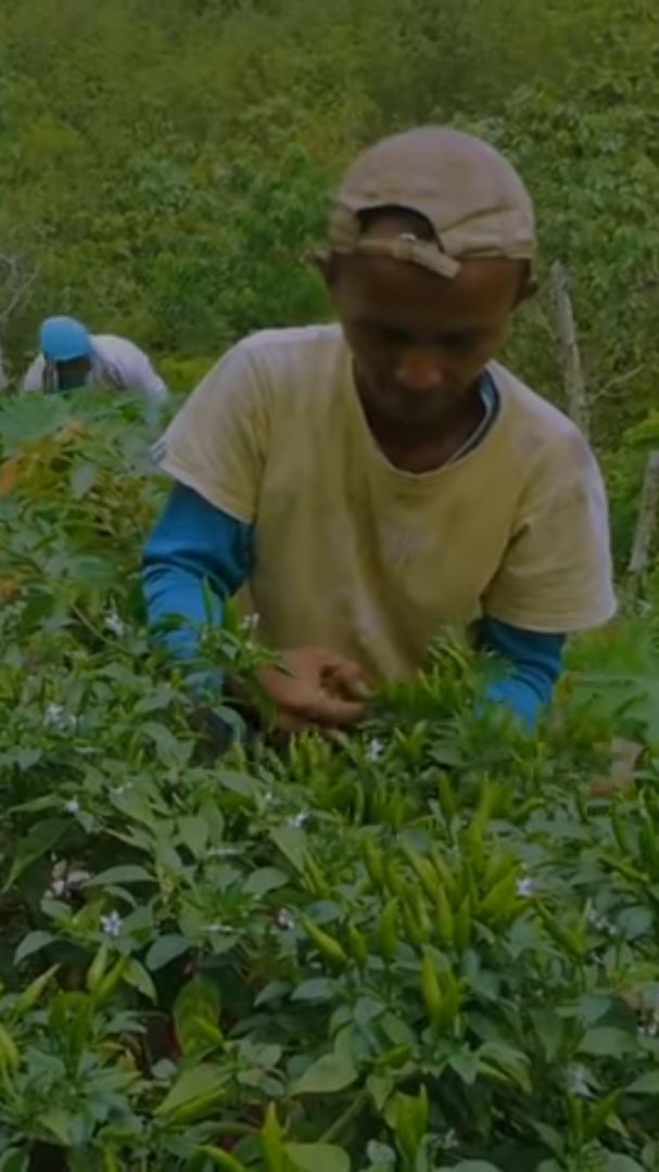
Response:
M25 376L23 391L93 387L137 390L154 403L168 397L164 382L137 346L111 334L91 336L74 318L47 318L39 333L39 349Z

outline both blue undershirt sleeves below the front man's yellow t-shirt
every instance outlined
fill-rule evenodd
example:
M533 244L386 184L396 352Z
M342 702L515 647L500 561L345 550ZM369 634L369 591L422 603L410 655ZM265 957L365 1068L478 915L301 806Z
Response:
M224 599L247 581L252 564L252 527L176 484L147 543L142 575L149 625L157 627L171 615L188 624L159 636L174 657L195 660L197 626L222 621ZM485 616L478 641L502 667L484 701L503 706L532 729L561 674L565 635L523 631Z

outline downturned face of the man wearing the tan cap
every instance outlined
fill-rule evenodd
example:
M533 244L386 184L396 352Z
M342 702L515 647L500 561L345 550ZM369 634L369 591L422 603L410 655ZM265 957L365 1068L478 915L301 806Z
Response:
M507 259L467 260L446 278L389 258L334 258L326 279L372 417L422 428L453 415L498 349L525 273Z

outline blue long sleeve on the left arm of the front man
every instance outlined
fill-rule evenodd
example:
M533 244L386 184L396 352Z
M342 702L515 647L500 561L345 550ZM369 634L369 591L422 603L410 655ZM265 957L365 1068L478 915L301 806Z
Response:
M223 601L247 580L251 563L252 526L176 484L147 541L142 568L149 626L168 615L190 624L159 635L172 656L195 659L196 628L222 622Z

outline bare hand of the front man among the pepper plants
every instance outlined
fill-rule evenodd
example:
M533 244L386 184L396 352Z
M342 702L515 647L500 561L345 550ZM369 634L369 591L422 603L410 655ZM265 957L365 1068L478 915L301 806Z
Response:
M277 707L277 727L340 728L364 714L368 687L359 663L324 647L298 647L281 653L283 669L265 667L257 679Z

